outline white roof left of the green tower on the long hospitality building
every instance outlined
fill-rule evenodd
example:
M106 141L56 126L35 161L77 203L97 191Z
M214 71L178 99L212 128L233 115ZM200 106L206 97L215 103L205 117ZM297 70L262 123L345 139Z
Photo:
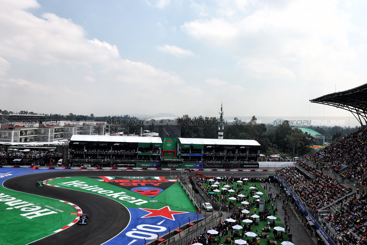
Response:
M101 142L130 142L130 143L162 143L160 137L134 137L109 135L73 135L70 141L101 141Z

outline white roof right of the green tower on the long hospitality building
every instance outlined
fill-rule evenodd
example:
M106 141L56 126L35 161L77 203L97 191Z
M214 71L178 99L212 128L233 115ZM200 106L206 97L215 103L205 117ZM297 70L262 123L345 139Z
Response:
M236 146L260 146L256 140L250 139L199 139L178 138L181 144L197 145L236 145Z

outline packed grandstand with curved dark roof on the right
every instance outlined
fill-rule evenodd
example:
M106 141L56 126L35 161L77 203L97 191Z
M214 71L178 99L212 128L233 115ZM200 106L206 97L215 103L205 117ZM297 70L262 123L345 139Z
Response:
M277 171L325 244L367 244L367 84L310 100L350 111L358 131Z

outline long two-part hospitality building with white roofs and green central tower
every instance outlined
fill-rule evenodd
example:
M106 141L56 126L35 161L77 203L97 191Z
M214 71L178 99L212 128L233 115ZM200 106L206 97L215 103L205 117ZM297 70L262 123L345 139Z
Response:
M258 168L255 140L73 135L70 166Z

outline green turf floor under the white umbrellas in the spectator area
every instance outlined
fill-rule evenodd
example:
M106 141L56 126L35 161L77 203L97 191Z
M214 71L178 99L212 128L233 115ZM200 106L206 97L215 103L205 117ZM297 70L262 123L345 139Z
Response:
M217 184L218 186L217 187L211 187L211 185L214 183L215 181L213 181L213 182L209 182L210 184L209 184L209 186L208 186L208 184L206 184L206 183L203 183L203 185L204 185L204 187L205 188L207 188L207 187L209 187L209 190L211 190L211 188L213 188L213 190L214 189L218 189L218 190L221 190L222 188L224 188L224 185L226 185L226 183L225 182L222 182L222 184ZM237 184L239 184L239 186L237 187ZM262 192L262 193L264 193L264 194L262 194L262 195L259 195L259 194L256 194L256 193L254 193L254 192L252 192L253 194L252 195L259 195L259 196L261 196L262 198L264 198L264 200L266 201L266 200L268 200L268 195L267 194L265 194L265 191L264 191L264 188L263 187L265 187L265 183L250 183L250 182L248 182L247 184L241 184L241 183L237 183L237 182L235 182L235 183L233 183L233 184L230 184L229 186L230 187L226 187L227 189L229 189L229 188L234 188L234 189L239 189L240 187L243 187L244 188L244 190L242 191L242 194L243 195L245 195L245 196L247 196L247 195L249 195L249 198L248 198L248 200L246 200L246 201L251 201L251 202L257 202L256 200L258 199L258 198L255 198L255 197L252 197L252 195L250 195L250 192L251 192L251 190L252 189L250 189L250 187L251 187L251 185L256 185L256 187L258 187L259 188L259 190L257 190L257 191L255 191L255 192ZM247 191L246 191L246 188L247 188ZM274 190L274 191L276 191L276 189ZM217 194L217 195L221 195L221 192L214 192L215 194ZM232 193L236 193L236 192L232 192ZM273 193L273 191L272 191L272 193ZM215 195L214 194L214 195ZM230 192L229 192L229 194L228 195L223 195L225 198L227 198L227 197L231 197L231 196L234 196L235 194L231 194ZM228 200L226 203L228 204L229 203L229 201L232 201L232 203L233 203L233 201L235 201L236 202L236 200ZM281 205L283 205L283 203L280 201L280 199L278 198L278 200L277 200L277 202L278 202L278 207L280 207ZM244 204L241 204L241 202L238 202L238 203L235 203L235 205L236 206L238 206L238 207L240 207L240 206L242 206L242 205L244 205ZM245 205L244 205L245 206ZM275 204L274 204L274 209L272 209L272 205L271 205L271 202L269 203L269 206L268 206L269 208L270 208L270 212L271 212L271 215L273 215L273 211L275 210ZM265 208L265 203L264 203L264 208ZM256 211L256 214L259 214L259 207L257 207L256 208L257 209L257 211ZM252 206L252 208L250 208L250 209L247 209L248 211L250 211L251 213L255 213L255 205L253 205ZM244 216L243 216L243 220L244 219L251 219L251 217L247 217L249 214L246 214L246 213L244 213ZM283 225L283 223L281 222L281 220L280 220L280 218L279 218L279 216L278 216L278 214L277 214L277 212L275 212L275 215L274 215L275 217L276 217L276 219L275 219L275 226L280 226L280 227L283 227L284 228L284 225ZM283 217L284 218L284 217ZM225 219L225 218L223 218L223 219ZM254 220L256 220L256 219L254 219ZM256 226L254 226L254 225L252 225L252 223L251 223L251 231L252 232L254 232L254 233L257 233L258 235L260 234L260 232L262 232L262 228L264 228L264 227L266 227L266 226L268 226L268 221L272 221L272 220L270 220L270 219L268 219L267 221L260 221L259 222L259 225L256 225ZM232 224L232 226L234 226L235 224L237 224L237 223L231 223ZM244 222L241 222L241 226L243 226L243 224L245 224ZM246 223L246 224L248 224L248 223ZM280 240L280 239L274 239L273 238L273 228L274 228L274 226L273 227L271 227L271 231L270 232L268 232L268 234L269 234L269 240L270 241L274 241L274 240L276 240L277 241L277 244L278 245L280 245L280 243L282 242L282 241L290 241L290 238L288 238L288 234L283 234L283 240ZM208 228L209 229L209 228ZM256 230L257 230L257 232L256 232ZM242 233L242 229L239 229L239 230L234 230L234 231L239 231L239 233L241 234ZM246 233L246 232L245 232ZM278 233L280 233L280 231L278 231ZM292 233L292 231L291 231L291 233ZM230 238L230 231L228 231L228 238ZM219 239L218 238L218 235L214 235L214 238L215 239ZM221 242L223 242L223 244L224 244L224 241L225 241L225 238L226 237L222 237L221 238ZM252 237L248 237L249 239L252 239ZM240 239L240 237L235 237L235 240L236 239ZM246 236L243 238L244 240L246 240ZM220 244L220 243L219 243ZM234 243L234 244L236 244L236 243ZM267 242L266 242L266 238L260 238L260 243L259 243L260 245L267 245Z

